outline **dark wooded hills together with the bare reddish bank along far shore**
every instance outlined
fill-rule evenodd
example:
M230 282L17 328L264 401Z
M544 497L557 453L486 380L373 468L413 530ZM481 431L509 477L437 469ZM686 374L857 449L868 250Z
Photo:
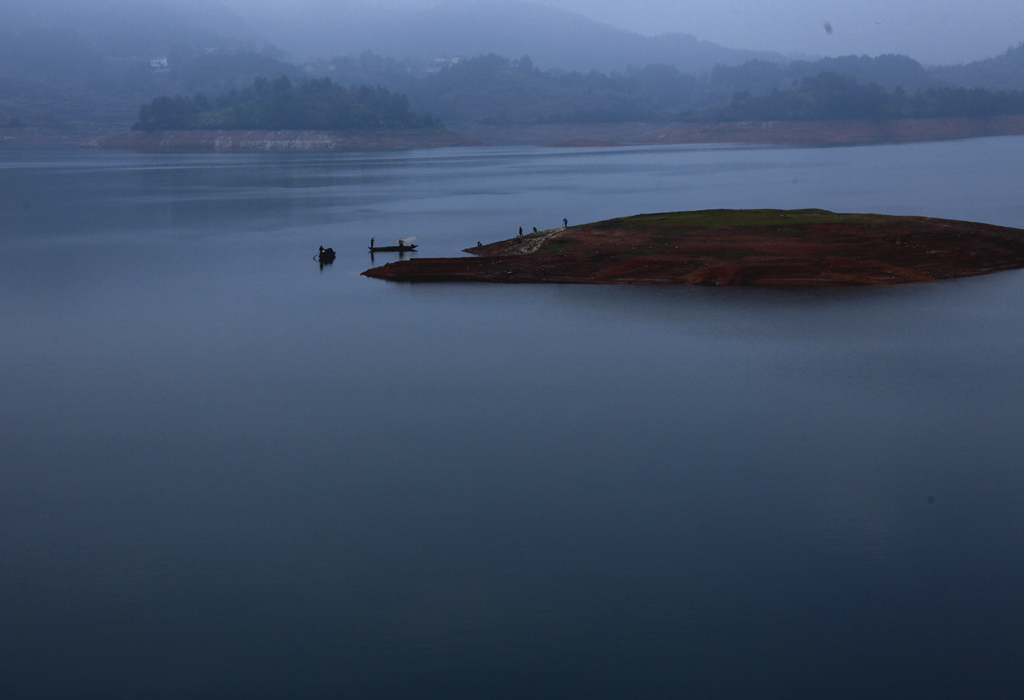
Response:
M1024 57L1018 53L1007 56ZM265 58L260 68L269 68ZM495 55L422 75L369 53L335 59L330 68L340 80L376 82L345 87L332 78L286 72L212 96L161 95L141 105L133 131L196 133L122 135L97 145L238 150L513 141L843 144L1024 133L1024 90L937 85L905 56L850 56L787 67L751 60L716 67L705 84L667 65L581 74L542 71L528 57ZM250 135L218 138L216 132ZM311 138L308 132L332 136Z

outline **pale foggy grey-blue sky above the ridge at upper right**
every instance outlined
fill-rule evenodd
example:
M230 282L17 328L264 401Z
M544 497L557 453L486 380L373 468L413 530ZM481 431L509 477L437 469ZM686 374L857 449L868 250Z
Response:
M340 4L422 8L439 0L222 0L299 11ZM451 0L445 0L451 2ZM486 3L492 0L456 0ZM1024 41L1024 0L535 0L654 35L692 34L731 48L811 55L904 53L925 63L986 58ZM834 32L824 30L828 23Z

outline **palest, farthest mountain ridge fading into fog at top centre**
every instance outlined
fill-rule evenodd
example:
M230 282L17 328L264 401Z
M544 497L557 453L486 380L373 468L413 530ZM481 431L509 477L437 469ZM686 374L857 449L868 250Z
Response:
M664 63L685 73L752 58L785 60L778 53L725 48L686 34L646 37L518 0L454 1L407 12L346 5L316 8L253 11L247 16L269 41L300 59L365 50L414 60L494 53L528 55L543 69L610 72Z

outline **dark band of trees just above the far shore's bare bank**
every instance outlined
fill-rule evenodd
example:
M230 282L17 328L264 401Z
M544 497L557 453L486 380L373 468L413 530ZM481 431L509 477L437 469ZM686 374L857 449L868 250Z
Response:
M916 72L915 63L898 56L828 60L838 65L849 63L862 72ZM705 88L693 76L669 65L647 65L610 75L596 71L560 73L539 70L528 56L510 60L487 55L414 75L394 61L375 60L372 54L361 56L357 62L359 70L386 71L406 81L420 110L452 120L494 125L669 122L674 118L741 122L1024 114L1024 91L953 87L911 91L902 86L889 90L874 82L858 81L853 75L827 71L799 80L783 77L766 91L763 86L779 80L783 69L764 61L716 69L711 88L719 90L719 96L713 101L707 93L700 96ZM728 93L721 92L725 86L744 84L752 89L737 89L726 101ZM700 104L712 106L694 108ZM133 128L379 132L439 127L440 122L432 117L413 113L406 94L380 86L345 88L330 78L296 81L283 75L272 80L257 78L248 87L223 92L213 99L203 92L193 97L157 97L139 108Z

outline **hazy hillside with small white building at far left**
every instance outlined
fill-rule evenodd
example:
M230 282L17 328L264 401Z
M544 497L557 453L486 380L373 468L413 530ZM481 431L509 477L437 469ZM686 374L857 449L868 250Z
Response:
M2 1L0 125L130 126L162 93L301 74L215 1Z

